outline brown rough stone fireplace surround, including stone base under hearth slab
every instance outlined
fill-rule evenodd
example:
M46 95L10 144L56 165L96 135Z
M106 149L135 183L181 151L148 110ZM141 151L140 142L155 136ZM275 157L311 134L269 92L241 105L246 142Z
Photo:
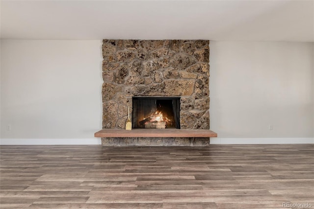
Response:
M132 96L181 97L181 129L209 129L208 40L103 40L103 129L125 129ZM103 146L206 146L209 138L102 138Z

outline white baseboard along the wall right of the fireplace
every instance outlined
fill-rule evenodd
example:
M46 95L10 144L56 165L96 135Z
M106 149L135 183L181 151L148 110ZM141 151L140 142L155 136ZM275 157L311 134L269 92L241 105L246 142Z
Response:
M210 138L210 144L314 144L314 138Z

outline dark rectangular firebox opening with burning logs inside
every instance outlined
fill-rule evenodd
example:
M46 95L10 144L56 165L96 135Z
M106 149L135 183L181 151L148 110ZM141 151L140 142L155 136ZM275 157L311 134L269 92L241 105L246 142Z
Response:
M180 97L133 97L133 129L180 129Z

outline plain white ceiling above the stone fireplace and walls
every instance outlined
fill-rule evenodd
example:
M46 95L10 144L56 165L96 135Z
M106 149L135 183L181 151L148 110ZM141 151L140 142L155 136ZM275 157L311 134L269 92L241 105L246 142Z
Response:
M314 0L1 0L1 39L314 42Z

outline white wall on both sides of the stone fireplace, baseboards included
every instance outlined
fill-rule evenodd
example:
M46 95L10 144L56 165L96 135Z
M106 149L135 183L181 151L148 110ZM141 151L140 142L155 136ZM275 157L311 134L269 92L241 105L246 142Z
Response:
M1 144L100 144L101 45L1 40ZM313 143L313 43L209 46L211 143Z

